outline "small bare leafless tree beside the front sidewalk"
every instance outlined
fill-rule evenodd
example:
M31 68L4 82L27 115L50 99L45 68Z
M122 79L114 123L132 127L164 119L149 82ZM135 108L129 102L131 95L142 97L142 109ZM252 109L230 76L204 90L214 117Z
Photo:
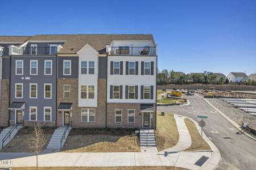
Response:
M36 154L36 169L38 169L38 154L41 152L42 147L46 144L44 138L44 131L37 123L32 131L31 138L27 139L28 148Z

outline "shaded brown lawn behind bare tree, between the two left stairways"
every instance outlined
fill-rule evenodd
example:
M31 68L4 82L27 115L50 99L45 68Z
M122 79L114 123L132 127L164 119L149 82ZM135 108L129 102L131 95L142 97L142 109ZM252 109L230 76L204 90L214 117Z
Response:
M15 137L9 142L0 152L31 152L28 148L27 139L31 137L31 133L34 127L25 126L20 129ZM46 138L46 144L43 146L42 151L46 149L49 140L52 137L52 134L55 127L42 127L44 130L44 138Z

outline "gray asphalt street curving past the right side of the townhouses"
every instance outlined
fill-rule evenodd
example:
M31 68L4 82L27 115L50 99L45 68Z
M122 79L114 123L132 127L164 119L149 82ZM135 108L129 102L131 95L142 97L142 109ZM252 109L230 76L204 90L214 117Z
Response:
M190 101L190 105L158 107L157 110L181 114L197 122L201 120L197 115L208 116L203 130L221 152L221 161L217 169L255 169L256 141L244 134L237 134L238 130L200 97L186 96L186 98Z

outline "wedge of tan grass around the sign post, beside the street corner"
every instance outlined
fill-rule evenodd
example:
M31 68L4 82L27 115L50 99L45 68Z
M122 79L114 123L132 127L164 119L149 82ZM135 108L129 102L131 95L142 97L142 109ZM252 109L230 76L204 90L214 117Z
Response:
M201 147L201 134L197 130L196 125L188 118L185 118L184 121L185 124L187 125L192 141L192 145L187 149L187 151L210 150L210 146L208 145L207 142L204 141L204 139L202 141Z

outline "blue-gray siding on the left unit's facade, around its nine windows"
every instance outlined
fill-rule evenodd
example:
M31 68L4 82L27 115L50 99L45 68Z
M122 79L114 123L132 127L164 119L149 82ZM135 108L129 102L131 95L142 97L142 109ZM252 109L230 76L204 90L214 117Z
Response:
M23 59L23 75L15 75L15 60ZM38 75L30 75L30 60L38 59ZM52 75L44 75L44 60L52 59ZM24 79L22 80L22 77ZM30 77L29 80L25 77ZM15 83L23 83L23 98L15 99ZM38 83L38 98L30 99L30 83ZM52 99L44 99L44 83L52 84ZM30 107L37 107L37 120L44 120L43 107L52 107L52 121L56 120L56 57L11 57L10 103L25 102L24 120L29 120ZM15 115L11 114L11 120Z

